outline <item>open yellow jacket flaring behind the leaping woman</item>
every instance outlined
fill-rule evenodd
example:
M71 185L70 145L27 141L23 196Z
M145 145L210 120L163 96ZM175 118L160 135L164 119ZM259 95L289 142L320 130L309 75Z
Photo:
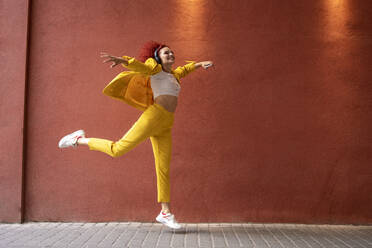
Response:
M122 64L130 71L119 73L104 89L103 94L144 111L154 103L151 89L150 76L162 71L161 64L155 59L149 58L142 63L135 58L122 56L128 61L128 65ZM195 61L172 70L172 74L180 83L180 79L195 70Z

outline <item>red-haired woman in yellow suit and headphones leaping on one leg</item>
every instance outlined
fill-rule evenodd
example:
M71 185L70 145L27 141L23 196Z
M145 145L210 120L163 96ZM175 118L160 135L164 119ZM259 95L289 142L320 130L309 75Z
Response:
M105 152L112 157L119 157L129 152L142 141L150 138L155 157L158 202L161 203L161 211L156 217L156 220L170 228L178 229L181 226L177 223L169 206L169 165L172 151L171 130L181 88L179 82L180 78L186 76L195 69L199 67L207 69L213 66L213 63L211 61L191 62L173 70L172 66L175 62L173 51L167 45L154 41L146 43L142 48L140 56L142 61L128 56L115 57L107 53L102 53L101 57L107 58L103 63L113 62L111 68L122 64L124 67L135 71L134 74L137 73L136 75L138 75L138 73L140 73L144 75L145 78L147 77L150 79L150 91L152 90L153 92L153 95L150 95L150 100L152 100L152 102L145 105L144 112L140 118L131 129L116 142L99 138L87 138L83 130L78 130L63 137L59 142L59 147L66 148L87 145L90 150ZM132 84L134 84L134 86L139 85L138 83ZM110 92L111 89L116 89L116 92L123 92L122 89L117 90L117 86L112 87L112 85L113 84L110 83L105 88L106 91L104 90L104 93L108 94L107 92ZM123 87L123 84L119 83L119 85ZM128 85L125 87L126 89L133 88ZM114 93L108 95L113 96ZM123 99L121 100L125 100L133 106L138 106L132 104L138 101L129 99L128 95L130 94L122 95L125 95L125 97L122 97Z

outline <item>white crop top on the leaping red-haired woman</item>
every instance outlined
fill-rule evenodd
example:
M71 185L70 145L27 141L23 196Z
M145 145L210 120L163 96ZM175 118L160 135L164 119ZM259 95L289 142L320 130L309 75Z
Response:
M172 73L161 71L151 76L151 88L154 99L160 95L178 96L181 85Z

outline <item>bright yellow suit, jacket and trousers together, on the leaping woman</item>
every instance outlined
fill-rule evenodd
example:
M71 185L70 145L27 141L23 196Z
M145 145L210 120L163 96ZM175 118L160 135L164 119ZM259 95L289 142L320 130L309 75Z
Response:
M148 76L161 71L161 65L155 64L154 61L154 59L150 58L146 63L141 63L131 58L128 66L125 67L134 71L135 75L140 73L140 77L132 80L133 73L121 73L104 90L106 95L123 100L138 109L145 109L140 118L120 140L114 142L107 139L90 138L88 146L90 150L101 151L112 157L119 157L129 152L142 141L150 138L155 158L158 202L170 202L169 168L172 153L171 132L174 113L169 112L157 103L153 103L153 101L149 103L149 90L148 86L146 86L149 81ZM177 67L172 73L180 82L179 79L181 77L194 70L195 62L191 62L185 66ZM126 76L127 79L125 79ZM145 80L138 80L141 77ZM117 80L118 78L120 80ZM135 92L135 94L131 93L131 91ZM150 93L152 97L151 90Z

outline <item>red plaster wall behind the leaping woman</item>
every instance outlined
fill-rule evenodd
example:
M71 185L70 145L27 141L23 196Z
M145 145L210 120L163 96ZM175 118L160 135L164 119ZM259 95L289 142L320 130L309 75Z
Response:
M88 137L125 134L141 112L102 94L123 68L110 69L99 53L136 56L153 39L175 51L175 66L215 62L215 70L182 81L171 164L180 222L372 223L371 7L369 0L33 0L25 220L154 221L149 140L120 158L57 146L81 128ZM24 36L14 41L24 44ZM6 85L15 85L19 70L9 71ZM17 80L19 94L25 81ZM1 113L13 108L5 99ZM2 114L1 123L15 125L22 111ZM7 151L11 132L2 135L1 177L20 188L19 174L9 173L22 167L22 154ZM9 192L20 197L1 188L0 199ZM2 220L17 220L0 209Z

